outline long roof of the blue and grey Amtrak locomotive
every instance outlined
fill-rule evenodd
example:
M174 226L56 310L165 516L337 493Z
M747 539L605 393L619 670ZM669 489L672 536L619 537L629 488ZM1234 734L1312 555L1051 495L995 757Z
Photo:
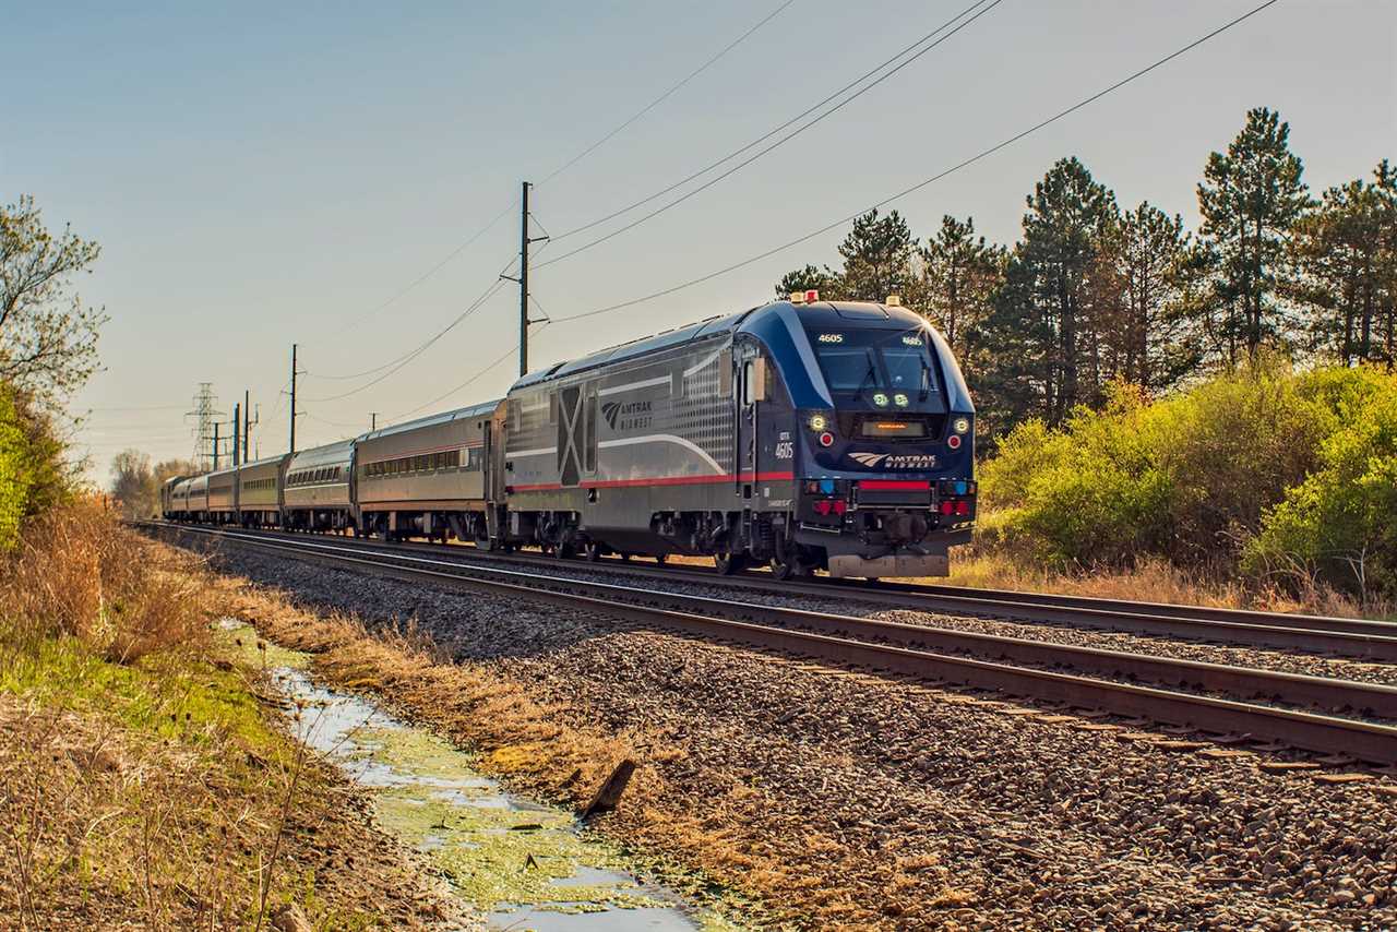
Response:
M785 317L788 320L799 320L802 323L814 323L819 327L848 327L849 324L856 323L858 326L888 328L915 327L922 320L918 314L907 310L905 307L887 307L884 305L875 305L870 302L824 300L813 305L792 305L789 300L775 300L770 305L752 307L750 310L745 310L738 314L707 317L698 323L666 330L655 334L654 337L641 337L616 347L598 349L597 352L581 356L580 359L559 362L548 369L538 369L520 377L513 386L510 386L510 391L514 391L515 388L525 388L541 381L562 379L563 376L570 376L574 372L584 372L587 369L624 362L626 359L634 359L637 356L644 356L661 349L669 349L682 344L697 342L719 334L747 330L749 327L757 326L767 317Z

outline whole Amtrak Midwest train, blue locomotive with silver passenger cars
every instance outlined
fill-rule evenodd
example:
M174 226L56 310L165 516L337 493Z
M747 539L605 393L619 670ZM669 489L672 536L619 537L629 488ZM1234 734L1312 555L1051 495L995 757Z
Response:
M950 573L975 408L895 298L798 292L560 362L506 397L161 489L163 517L778 578Z

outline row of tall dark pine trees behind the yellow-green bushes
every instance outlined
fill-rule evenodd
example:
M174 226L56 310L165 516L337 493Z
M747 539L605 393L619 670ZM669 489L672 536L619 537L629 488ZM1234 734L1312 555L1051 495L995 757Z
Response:
M1317 198L1289 148L1289 124L1246 115L1208 155L1197 184L1201 225L1143 201L1122 208L1074 156L1028 194L1013 246L944 217L919 239L895 210L869 211L840 245L842 267L806 265L778 296L900 295L957 354L981 436L1030 418L1062 425L1099 408L1112 383L1147 397L1236 369L1259 355L1397 365L1397 169Z

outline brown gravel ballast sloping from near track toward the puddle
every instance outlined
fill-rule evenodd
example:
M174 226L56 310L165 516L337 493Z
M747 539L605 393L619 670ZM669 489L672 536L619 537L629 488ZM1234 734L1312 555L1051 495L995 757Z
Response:
M1397 925L1390 777L1327 784L1270 773L1268 755L585 613L242 549L222 559L370 626L415 619L457 660L566 708L566 724L644 736L680 805L715 824L740 816L809 875L807 914L840 886L861 904L848 922L890 929ZM609 824L643 836L643 820L622 806Z

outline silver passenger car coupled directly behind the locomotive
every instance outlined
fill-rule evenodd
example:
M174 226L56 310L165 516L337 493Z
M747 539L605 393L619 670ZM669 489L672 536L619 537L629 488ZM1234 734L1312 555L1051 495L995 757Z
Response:
M359 531L488 544L486 458L500 436L502 412L502 402L488 401L359 437Z

